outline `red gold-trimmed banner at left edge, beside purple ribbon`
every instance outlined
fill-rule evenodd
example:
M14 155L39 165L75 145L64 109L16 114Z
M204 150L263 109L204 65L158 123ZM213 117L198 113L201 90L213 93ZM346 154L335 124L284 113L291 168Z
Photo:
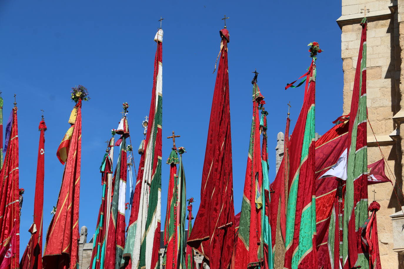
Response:
M11 238L15 240L15 255L7 261L4 269L19 267L20 249L20 209L19 209L19 147L17 107L11 111L8 122L8 145L4 165L0 173L0 248L5 247ZM7 132L7 130L6 130ZM4 179L4 180L3 180Z

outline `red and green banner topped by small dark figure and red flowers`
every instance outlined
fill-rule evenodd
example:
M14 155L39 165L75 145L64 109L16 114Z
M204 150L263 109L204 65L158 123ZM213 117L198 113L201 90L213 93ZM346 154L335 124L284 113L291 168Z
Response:
M248 148L247 169L244 181L244 194L241 205L240 226L236 243L236 269L263 265L263 246L261 244L261 213L263 209L262 158L260 140L260 105L264 97L257 85L257 75L252 87L252 123L250 146Z

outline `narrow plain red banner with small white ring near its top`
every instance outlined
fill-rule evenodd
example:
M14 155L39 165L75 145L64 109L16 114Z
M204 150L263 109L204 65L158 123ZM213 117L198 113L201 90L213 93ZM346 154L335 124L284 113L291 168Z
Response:
M42 269L42 215L44 208L44 158L45 158L45 131L46 125L42 120L39 123L38 161L36 165L36 183L34 196L34 221L29 228L27 248L21 257L20 269Z

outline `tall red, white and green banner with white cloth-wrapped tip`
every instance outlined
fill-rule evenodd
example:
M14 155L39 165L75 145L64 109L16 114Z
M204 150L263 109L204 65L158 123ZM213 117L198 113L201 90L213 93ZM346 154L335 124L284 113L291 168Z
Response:
M156 269L159 266L163 100L162 37L163 30L159 29L154 39L157 49L154 58L149 125L144 156L141 157L141 165L144 164L144 169L143 173L139 172L141 178L138 175L139 184L135 188L133 208L121 261L121 267L124 268ZM137 215L134 213L136 211Z

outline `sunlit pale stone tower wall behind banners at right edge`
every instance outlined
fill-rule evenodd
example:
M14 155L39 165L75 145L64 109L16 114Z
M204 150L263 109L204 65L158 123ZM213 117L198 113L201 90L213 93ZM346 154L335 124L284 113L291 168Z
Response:
M393 219L398 219L397 214L394 213L401 211L400 204L404 204L399 189L402 188L404 164L402 161L404 124L401 128L401 123L404 122L404 62L402 61L404 58L404 0L342 0L342 16L337 19L337 23L342 30L343 115L350 110L362 29L359 23L364 17L361 9L365 6L369 9L366 13L368 18L366 42L368 163L379 161L383 152L387 159L386 175L393 181L395 188L394 191L390 183L371 185L368 187L368 197L369 202L372 202L372 191L375 190L377 192L375 199L381 205L377 213L377 222L382 267L404 268L404 259L400 254L404 250L404 240L393 240L403 236L402 230L397 229L393 232L393 223L389 217L393 215ZM399 199L395 192L398 193Z

